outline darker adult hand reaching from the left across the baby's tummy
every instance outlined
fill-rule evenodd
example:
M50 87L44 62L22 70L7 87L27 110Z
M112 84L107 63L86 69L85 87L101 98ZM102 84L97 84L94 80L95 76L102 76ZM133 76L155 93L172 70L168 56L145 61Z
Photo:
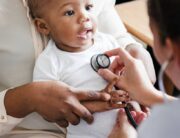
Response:
M68 122L78 124L80 118L88 123L93 121L92 114L79 100L109 99L108 94L98 92L81 93L77 98L66 84L46 81L33 82L9 90L5 95L5 107L7 114L13 117L22 118L37 112L44 119L66 127Z

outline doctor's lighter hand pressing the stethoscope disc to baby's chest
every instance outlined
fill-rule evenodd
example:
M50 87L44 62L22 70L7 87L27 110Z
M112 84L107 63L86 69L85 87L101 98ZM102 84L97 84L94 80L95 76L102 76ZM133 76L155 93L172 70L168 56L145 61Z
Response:
M145 70L142 61L133 58L122 48L105 53L116 56L109 69L100 69L98 73L107 81L118 78L116 87L128 92L129 97L142 105L150 106L156 90Z

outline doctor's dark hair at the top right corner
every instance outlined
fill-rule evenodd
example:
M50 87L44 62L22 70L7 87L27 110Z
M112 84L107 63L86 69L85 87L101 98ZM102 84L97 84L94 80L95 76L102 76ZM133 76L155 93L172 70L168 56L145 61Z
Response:
M158 28L160 41L180 42L180 0L148 0L148 14Z

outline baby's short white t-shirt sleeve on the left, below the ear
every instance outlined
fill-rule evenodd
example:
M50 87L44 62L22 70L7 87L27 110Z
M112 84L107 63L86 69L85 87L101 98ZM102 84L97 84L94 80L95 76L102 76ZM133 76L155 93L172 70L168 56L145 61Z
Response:
M33 81L59 80L56 56L49 53L45 54L44 52L36 61L33 72Z

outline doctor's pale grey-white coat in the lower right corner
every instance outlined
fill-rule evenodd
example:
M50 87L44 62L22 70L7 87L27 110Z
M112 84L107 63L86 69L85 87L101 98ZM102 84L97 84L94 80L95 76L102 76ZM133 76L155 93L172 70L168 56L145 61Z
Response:
M180 100L157 105L138 129L138 138L179 138Z

